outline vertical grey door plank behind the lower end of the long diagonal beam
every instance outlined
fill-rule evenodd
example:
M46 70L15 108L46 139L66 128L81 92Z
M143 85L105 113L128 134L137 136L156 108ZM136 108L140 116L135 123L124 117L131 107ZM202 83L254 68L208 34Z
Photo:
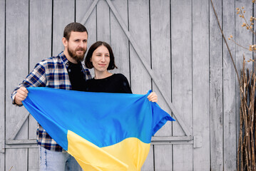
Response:
M171 1L173 105L192 133L192 1ZM173 135L183 136L177 122ZM173 170L193 170L193 145L173 145Z

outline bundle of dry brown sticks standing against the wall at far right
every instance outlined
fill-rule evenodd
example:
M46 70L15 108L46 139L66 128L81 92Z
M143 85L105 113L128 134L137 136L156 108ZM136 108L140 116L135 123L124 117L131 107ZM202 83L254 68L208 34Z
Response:
M240 135L237 170L255 170L255 70L245 71L245 57L240 77Z

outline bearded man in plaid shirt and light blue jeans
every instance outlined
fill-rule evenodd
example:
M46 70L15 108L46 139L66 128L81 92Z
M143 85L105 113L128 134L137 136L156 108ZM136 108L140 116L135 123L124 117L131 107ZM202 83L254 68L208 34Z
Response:
M24 81L11 94L14 105L22 105L28 87L48 87L81 90L83 79L91 74L81 61L87 50L88 31L82 24L68 24L63 31L64 51L36 64ZM50 98L50 97L49 97ZM36 131L41 170L81 170L76 160L58 145L41 125Z

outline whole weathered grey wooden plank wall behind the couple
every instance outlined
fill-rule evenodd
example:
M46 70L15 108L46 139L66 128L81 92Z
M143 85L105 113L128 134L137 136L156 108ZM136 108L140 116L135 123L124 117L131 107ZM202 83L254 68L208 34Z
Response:
M248 46L235 8L213 0L226 36ZM133 93L158 93L177 122L153 138L142 170L236 170L239 89L208 0L0 0L0 170L38 170L36 121L11 104L11 92L43 58L63 51L66 24L88 28L88 47L107 41ZM242 53L228 42L241 68Z

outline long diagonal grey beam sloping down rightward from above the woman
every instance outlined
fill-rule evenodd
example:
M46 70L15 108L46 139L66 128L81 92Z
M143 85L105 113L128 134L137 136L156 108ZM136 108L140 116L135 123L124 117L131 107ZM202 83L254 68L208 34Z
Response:
M153 79L155 85L158 87L158 90L160 91L160 94L163 96L165 102L168 104L170 110L172 110L173 114L175 115L176 120L178 120L178 123L180 124L181 128L183 129L185 135L192 136L190 133L190 130L188 129L187 125L183 122L183 119L180 117L178 110L176 110L173 103L171 103L170 98L167 95L164 95L161 88L158 84L158 76L155 75L153 70L150 68L148 63L145 63L145 57L143 56L143 53L140 51L139 46L135 42L133 36L131 36L130 31L128 31L128 28L126 27L126 24L124 24L123 20L121 19L121 16L118 14L118 11L116 11L115 7L113 6L111 0L106 0L108 3L108 6L111 8L111 11L113 11L113 14L116 16L116 19L120 26L123 28L123 31L126 33L126 36L128 37L130 43L132 44L133 48L135 49L136 53L138 54L138 58L140 59L141 63L143 63L143 66L148 71L149 75Z

